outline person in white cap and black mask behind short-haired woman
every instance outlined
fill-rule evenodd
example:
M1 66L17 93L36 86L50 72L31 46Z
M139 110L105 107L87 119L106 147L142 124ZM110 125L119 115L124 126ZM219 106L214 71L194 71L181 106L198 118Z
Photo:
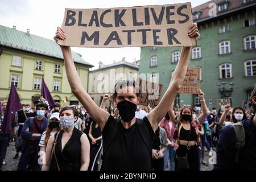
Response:
M57 133L61 130L60 126L60 113L52 113L51 117L49 118L49 123L47 126L46 131L42 134L42 137L39 142L40 152L46 151L47 142L49 137Z

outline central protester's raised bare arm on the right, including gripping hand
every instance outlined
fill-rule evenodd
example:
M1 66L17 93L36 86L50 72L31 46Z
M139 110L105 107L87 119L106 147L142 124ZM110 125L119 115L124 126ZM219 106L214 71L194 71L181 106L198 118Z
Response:
M188 32L188 35L193 38L199 39L200 34L197 29L197 24L194 23L191 26L191 30ZM148 115L148 121L150 121L152 129L155 131L158 123L162 120L164 115L167 113L168 109L171 106L171 103L174 102L177 93L181 88L181 85L184 81L185 75L187 73L189 57L191 54L191 47L183 47L181 49L180 60L176 66L174 74L172 75L170 85L164 93L162 100L159 102L158 106L155 107Z

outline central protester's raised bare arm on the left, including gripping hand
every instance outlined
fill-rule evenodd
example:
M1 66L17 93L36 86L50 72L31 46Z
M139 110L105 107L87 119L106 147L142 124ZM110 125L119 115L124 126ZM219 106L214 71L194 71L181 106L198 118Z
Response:
M57 40L64 40L65 38L66 36L64 30L60 27L57 27L54 40L57 42ZM71 48L68 46L60 46L60 48L63 53L66 74L68 77L69 85L71 86L72 93L77 97L77 99L85 107L92 118L97 121L98 125L101 127L101 130L103 130L105 123L109 118L109 113L98 107L82 87L81 79L73 62Z

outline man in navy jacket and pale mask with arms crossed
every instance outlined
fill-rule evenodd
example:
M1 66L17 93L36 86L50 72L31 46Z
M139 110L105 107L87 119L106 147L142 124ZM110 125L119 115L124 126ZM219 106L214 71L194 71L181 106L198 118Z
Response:
M38 163L39 142L41 135L46 131L48 119L44 117L48 109L46 104L36 105L36 117L27 118L22 129L22 137L26 145L22 149L19 159L18 171L25 171L28 166L32 171L39 171Z

